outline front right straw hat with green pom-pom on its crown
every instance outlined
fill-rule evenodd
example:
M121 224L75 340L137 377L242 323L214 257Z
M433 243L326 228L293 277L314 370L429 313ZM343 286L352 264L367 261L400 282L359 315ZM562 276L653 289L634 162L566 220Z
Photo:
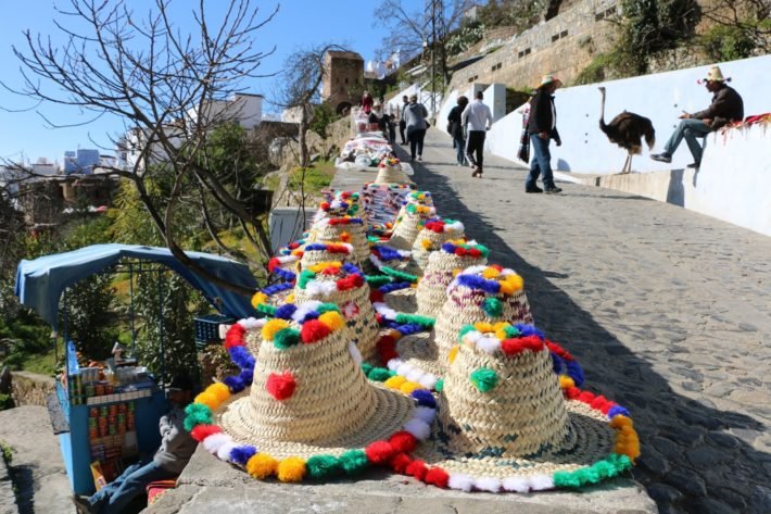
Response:
M415 457L465 491L578 487L631 467L640 442L627 411L558 378L543 337L520 328L464 327L430 443Z

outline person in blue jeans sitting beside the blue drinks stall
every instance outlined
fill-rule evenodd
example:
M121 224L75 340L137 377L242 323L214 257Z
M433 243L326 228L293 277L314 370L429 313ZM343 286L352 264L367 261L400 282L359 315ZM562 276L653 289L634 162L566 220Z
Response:
M167 391L174 408L159 423L161 447L152 459L128 466L115 480L91 497L75 497L80 514L119 514L136 497L144 493L148 484L176 478L190 461L195 440L185 429L185 406L190 403L192 384L187 377L176 377Z

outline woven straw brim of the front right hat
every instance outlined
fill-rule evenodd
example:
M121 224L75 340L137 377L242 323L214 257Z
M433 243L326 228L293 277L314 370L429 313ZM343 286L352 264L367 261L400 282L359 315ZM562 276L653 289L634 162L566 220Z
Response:
M430 443L421 444L414 456L426 461L428 465L440 466L450 473L496 478L506 478L511 475L532 476L570 472L607 457L614 450L616 437L614 429L608 426L607 416L577 400L566 400L565 408L571 426L569 436L571 444L563 447L555 454L529 459L455 454L441 442L439 423L434 423Z

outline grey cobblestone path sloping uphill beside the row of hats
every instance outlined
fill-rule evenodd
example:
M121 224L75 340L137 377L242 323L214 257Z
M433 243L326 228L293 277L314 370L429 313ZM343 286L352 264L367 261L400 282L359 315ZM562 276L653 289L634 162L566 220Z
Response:
M631 411L634 475L660 512L771 513L771 238L599 188L526 195L524 170L485 155L480 180L454 153L429 130L415 181L524 277L590 388Z

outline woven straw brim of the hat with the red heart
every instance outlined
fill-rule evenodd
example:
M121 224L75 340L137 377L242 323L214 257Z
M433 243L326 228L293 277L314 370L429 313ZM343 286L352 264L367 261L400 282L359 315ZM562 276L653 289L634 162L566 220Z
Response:
M256 434L252 428L252 410L249 389L222 408L215 415L215 423L229 434L238 443L253 444L261 452L266 452L276 459L299 456L307 459L317 454L339 456L347 450L364 448L367 444L388 439L393 432L402 429L413 417L415 401L405 394L384 388L380 383L369 381L372 388L367 401L375 409L364 426L353 432L340 434L338 437L316 443L280 441Z

